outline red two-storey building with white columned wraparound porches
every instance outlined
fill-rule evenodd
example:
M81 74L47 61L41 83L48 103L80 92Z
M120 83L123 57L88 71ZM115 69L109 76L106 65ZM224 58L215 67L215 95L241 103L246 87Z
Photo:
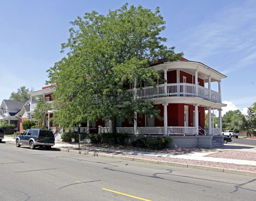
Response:
M160 109L163 121L149 118L147 114L143 114L142 118L137 116L134 124L117 120L117 132L129 133L132 140L137 137L172 136L173 146L212 148L223 145L221 108L226 107L226 104L221 102L221 80L226 76L200 62L185 58L174 62L159 62L150 68L162 74L166 82L158 81L156 88L146 83L139 86L131 83L126 87L132 97L154 101L155 106ZM28 94L31 100L32 97L45 97L46 101L51 102L54 90L54 87L46 86ZM31 116L34 107L35 105L30 105ZM211 114L214 110L219 113L218 128L211 127ZM208 129L204 129L205 112L209 114ZM51 118L52 115L53 111L48 111L46 116ZM111 121L85 122L84 126L80 133L111 132ZM48 123L48 127L55 128L52 123Z

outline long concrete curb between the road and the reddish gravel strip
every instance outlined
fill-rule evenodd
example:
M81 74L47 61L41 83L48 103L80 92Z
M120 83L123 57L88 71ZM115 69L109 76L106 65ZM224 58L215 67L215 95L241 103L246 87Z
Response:
M159 164L159 165L176 166L176 167L180 167L180 168L194 168L194 169L198 169L198 170L217 171L217 172L225 172L225 173L232 173L232 174L256 177L256 172L251 172L251 171L232 170L232 169L226 169L226 168L200 166L200 165L167 162L167 161L159 161L159 160L138 159L138 158L133 158L133 157L115 156L115 155L111 155L111 154L95 153L95 152L91 152L91 151L79 151L79 150L72 150L72 149L60 149L60 151L66 151L69 153L78 153L78 154L84 154L84 155L96 156L96 157L106 157L106 158L112 158L112 159L130 160L130 161L136 161L136 162L145 162L145 163L152 163L152 164Z

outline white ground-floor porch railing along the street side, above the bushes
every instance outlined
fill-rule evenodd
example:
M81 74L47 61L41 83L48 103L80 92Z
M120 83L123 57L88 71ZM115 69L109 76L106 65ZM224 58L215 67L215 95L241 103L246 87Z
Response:
M98 133L109 133L109 127L99 127ZM167 127L167 135L197 134L196 127ZM117 127L117 133L134 134L134 127ZM137 127L136 134L164 135L164 127Z

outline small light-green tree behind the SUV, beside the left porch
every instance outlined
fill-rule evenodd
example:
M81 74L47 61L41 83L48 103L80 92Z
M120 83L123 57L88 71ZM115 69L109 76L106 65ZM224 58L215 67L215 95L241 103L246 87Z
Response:
M35 107L34 110L34 116L33 118L37 121L38 125L43 123L45 125L46 123L46 114L48 110L51 109L51 105L46 102L45 98L39 98L37 100L37 106Z

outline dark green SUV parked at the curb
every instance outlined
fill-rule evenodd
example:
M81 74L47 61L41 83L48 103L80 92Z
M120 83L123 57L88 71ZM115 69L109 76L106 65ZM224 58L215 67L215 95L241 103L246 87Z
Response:
M46 129L26 129L16 137L16 146L28 145L30 149L45 147L49 150L55 144L55 137L52 131Z

